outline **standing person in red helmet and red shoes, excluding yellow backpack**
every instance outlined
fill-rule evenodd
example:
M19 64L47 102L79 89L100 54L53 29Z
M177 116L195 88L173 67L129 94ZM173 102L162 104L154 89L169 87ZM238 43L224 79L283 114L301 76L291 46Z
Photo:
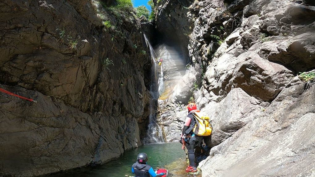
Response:
M194 133L186 134L186 130L190 126L194 126L195 119L193 118L193 112L197 110L197 105L195 103L189 103L187 105L188 115L186 117L185 125L183 131L181 132L180 141L186 142L186 148L188 151L189 165L186 168L186 172L196 172L198 171L195 167L195 146L202 143L202 137L195 135ZM184 140L183 140L184 139Z

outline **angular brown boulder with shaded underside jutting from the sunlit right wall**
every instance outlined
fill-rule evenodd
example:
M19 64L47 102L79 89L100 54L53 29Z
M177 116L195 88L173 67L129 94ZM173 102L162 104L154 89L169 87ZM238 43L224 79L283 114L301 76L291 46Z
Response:
M239 64L231 82L257 99L270 101L293 77L293 72L283 65L253 58Z

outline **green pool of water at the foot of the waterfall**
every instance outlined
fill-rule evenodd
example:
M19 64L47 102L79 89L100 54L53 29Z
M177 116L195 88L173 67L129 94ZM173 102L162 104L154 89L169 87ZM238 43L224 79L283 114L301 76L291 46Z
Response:
M163 167L169 170L172 177L195 176L185 173L186 155L181 149L181 144L178 142L172 143L156 143L141 146L139 148L127 150L117 159L111 160L97 167L87 167L76 169L66 173L54 174L50 177L123 177L126 174L132 175L131 166L137 160L137 155L140 152L148 154L148 164L153 169Z

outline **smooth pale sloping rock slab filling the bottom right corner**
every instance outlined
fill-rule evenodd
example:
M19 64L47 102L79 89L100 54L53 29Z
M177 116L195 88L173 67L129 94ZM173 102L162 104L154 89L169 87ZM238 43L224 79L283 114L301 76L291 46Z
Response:
M204 176L314 175L314 91L304 84L284 89L261 116L211 149L200 165Z

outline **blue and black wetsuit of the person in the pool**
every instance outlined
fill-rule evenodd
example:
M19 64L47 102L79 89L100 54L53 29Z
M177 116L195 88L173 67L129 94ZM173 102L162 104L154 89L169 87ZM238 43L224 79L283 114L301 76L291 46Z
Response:
M152 177L160 177L163 175L163 173L156 174L150 165L139 162L132 165L131 172L135 174L135 177L150 177L150 175Z

